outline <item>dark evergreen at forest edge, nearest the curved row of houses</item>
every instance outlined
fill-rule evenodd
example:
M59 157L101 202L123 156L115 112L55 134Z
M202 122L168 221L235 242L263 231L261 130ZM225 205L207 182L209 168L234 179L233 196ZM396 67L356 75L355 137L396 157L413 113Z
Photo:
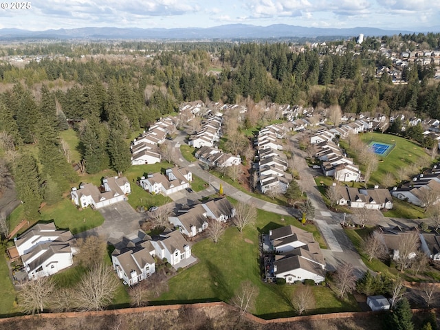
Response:
M107 148L110 156L110 164L113 170L120 173L125 172L131 166L130 146L124 140L120 131L112 130L109 136Z

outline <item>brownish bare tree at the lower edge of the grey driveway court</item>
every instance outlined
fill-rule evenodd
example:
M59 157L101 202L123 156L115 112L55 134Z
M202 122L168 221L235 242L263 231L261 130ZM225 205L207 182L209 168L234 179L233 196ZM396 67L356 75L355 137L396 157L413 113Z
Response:
M79 253L75 259L84 267L90 268L100 263L107 252L107 243L103 237L88 236L86 239L78 239L76 243Z

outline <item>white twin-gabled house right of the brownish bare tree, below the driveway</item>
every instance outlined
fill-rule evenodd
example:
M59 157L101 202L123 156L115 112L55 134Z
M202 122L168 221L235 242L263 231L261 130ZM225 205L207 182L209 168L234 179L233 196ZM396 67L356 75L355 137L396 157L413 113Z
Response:
M124 237L111 254L113 269L126 284L133 286L156 270L155 248L151 241L131 241Z

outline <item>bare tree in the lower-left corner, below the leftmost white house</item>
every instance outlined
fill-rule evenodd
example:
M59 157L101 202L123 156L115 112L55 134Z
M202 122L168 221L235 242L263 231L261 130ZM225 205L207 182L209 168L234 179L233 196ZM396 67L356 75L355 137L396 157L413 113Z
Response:
M36 278L34 281L21 285L21 292L19 293L21 309L28 314L43 312L52 300L54 289L55 283L50 277Z

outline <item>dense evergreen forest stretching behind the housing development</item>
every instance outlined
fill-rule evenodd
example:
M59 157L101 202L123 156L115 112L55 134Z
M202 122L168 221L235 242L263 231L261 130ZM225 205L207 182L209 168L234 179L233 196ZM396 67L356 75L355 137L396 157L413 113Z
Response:
M440 85L433 65L411 64L405 84L393 85L377 67L392 69L377 50L439 46L439 34L355 39L344 54L326 47L292 43L104 43L5 47L8 56L37 56L17 67L0 62L0 142L14 173L27 216L39 203L61 199L77 176L58 132L67 119L80 137L88 173L130 166L129 142L155 119L174 113L181 102L203 100L241 103L300 104L343 111L406 111L440 118ZM151 54L146 56L145 54ZM63 54L63 56L55 56ZM44 55L44 56L43 56ZM66 56L70 56L67 58ZM26 152L36 144L38 154Z

